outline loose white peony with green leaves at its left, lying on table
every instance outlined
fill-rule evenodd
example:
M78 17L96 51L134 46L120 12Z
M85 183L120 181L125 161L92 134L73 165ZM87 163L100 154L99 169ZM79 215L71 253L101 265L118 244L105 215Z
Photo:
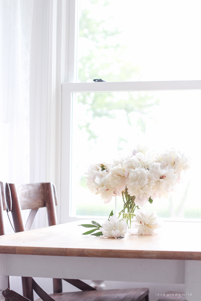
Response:
M106 220L101 226L100 231L102 231L104 236L109 238L124 237L128 228L127 223L125 221L119 222L115 215L110 216L109 220Z

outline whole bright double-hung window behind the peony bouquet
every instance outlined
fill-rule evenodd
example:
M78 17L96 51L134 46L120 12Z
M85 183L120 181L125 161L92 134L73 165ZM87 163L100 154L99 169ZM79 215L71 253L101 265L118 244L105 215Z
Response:
M75 23L69 41L76 45L69 57L72 82L62 90L61 193L70 200L70 216L108 216L115 198L103 204L91 194L84 169L144 143L192 158L177 191L151 208L164 218L201 218L193 158L200 145L199 3L151 3L80 0L79 35Z

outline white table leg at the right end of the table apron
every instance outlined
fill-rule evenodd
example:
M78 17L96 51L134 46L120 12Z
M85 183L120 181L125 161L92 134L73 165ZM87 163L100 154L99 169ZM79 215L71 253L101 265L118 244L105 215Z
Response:
M185 262L185 300L201 300L201 261L199 260Z

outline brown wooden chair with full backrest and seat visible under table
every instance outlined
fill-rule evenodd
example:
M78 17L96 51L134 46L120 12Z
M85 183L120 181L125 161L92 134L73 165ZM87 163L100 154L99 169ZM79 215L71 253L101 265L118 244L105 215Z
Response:
M53 183L33 183L24 185L5 184L5 195L7 212L15 232L30 230L37 210L46 207L49 226L57 225L56 205L57 194ZM24 227L22 211L31 209L26 225ZM12 215L12 219L11 219ZM22 277L23 296L33 301L33 289L43 301L149 301L149 289L121 289L121 290L102 290L97 291L88 284L78 279L64 279L68 283L82 290L82 292L62 293L62 280L53 279L54 293L48 295L31 277ZM10 292L8 291L7 296Z

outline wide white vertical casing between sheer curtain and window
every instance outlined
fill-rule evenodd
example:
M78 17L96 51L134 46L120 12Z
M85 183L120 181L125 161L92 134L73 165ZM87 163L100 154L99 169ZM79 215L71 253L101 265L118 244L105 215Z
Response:
M30 62L30 182L54 182L60 220L61 83L68 0L34 0ZM66 20L65 20L66 21ZM64 48L64 49L63 49ZM40 220L46 215L41 213Z

